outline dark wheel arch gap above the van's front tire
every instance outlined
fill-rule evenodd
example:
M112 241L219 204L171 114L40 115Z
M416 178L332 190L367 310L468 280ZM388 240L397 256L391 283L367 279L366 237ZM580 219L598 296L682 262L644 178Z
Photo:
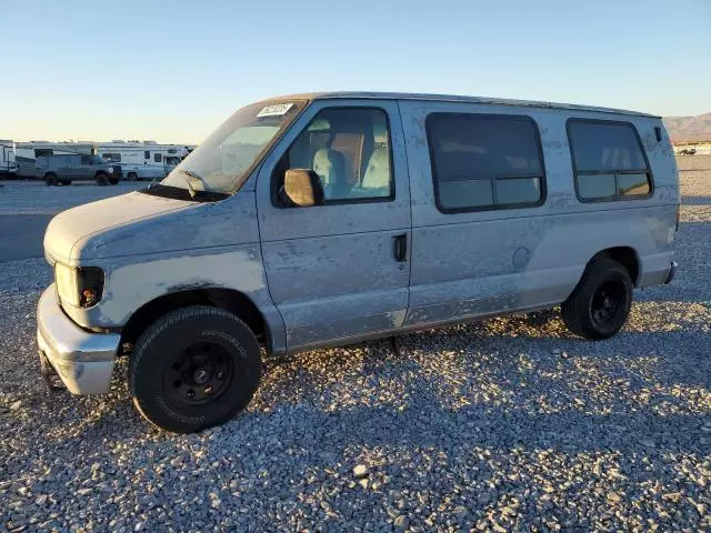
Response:
M164 314L189 305L209 305L239 316L252 330L260 345L272 351L269 323L254 302L234 289L201 288L162 294L137 309L123 328L121 345L136 344L141 333Z

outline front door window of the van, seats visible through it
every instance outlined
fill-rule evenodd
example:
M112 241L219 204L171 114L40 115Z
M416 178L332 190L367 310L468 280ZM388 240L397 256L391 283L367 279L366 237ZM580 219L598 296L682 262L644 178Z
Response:
M290 169L316 172L327 204L394 199L385 112L372 108L322 110L277 165L277 191Z

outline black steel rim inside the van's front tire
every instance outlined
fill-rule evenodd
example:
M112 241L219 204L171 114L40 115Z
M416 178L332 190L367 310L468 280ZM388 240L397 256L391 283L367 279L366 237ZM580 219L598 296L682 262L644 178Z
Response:
M203 405L219 399L236 374L230 352L216 342L190 344L163 370L163 390L183 405Z

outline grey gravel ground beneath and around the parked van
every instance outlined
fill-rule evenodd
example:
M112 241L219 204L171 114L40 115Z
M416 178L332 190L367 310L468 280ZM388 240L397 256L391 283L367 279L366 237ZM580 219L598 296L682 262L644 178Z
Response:
M47 392L34 304L50 271L42 260L2 263L0 524L711 529L711 164L702 159L680 160L699 167L682 172L679 276L638 291L617 338L581 341L555 313L534 313L395 346L269 360L249 409L197 435L142 422L124 364L109 395Z

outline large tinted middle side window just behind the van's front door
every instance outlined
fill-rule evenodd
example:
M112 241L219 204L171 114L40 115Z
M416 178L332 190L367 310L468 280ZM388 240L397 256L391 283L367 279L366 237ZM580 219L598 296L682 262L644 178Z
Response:
M440 211L515 209L543 202L541 141L530 117L432 113L425 128Z

